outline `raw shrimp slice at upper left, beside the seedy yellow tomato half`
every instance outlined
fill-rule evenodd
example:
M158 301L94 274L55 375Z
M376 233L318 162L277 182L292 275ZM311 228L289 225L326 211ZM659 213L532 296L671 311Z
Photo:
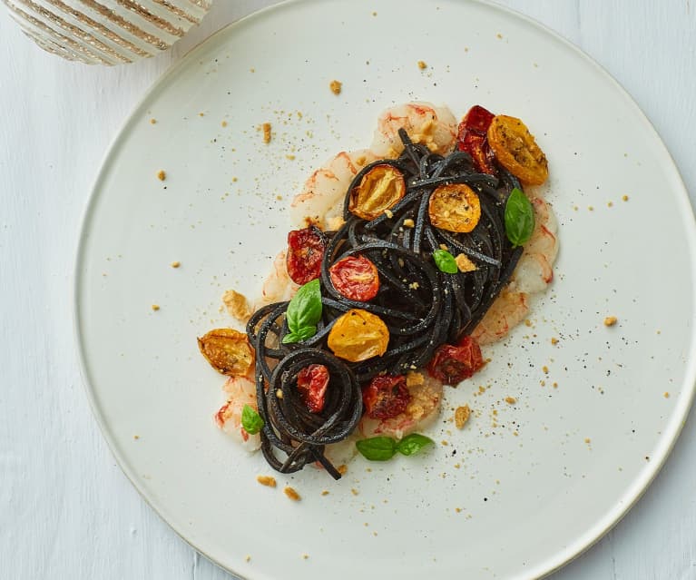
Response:
M290 203L290 222L297 228L315 224L322 230L336 230L343 212L348 186L375 155L367 149L339 152L305 182L302 192Z

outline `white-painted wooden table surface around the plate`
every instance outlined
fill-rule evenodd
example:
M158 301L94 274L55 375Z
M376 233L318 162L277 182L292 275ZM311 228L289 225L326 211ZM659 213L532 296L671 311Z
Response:
M75 354L72 272L93 179L134 104L211 32L270 4L217 0L172 52L113 69L45 54L0 9L0 577L231 577L154 514L106 447ZM502 4L613 74L662 135L696 204L696 2ZM639 504L554 579L696 578L693 457L691 418Z

